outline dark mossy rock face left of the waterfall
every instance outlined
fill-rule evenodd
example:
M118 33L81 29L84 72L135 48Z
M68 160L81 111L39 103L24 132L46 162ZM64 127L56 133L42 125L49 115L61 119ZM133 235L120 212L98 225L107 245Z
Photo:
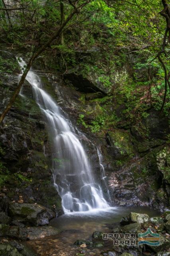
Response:
M10 52L8 63L18 66ZM19 69L0 75L0 111L8 103L18 83ZM53 186L51 145L43 115L25 82L14 106L0 126L0 210L8 210L8 201L38 203L63 213L61 198ZM4 188L5 184L5 188Z

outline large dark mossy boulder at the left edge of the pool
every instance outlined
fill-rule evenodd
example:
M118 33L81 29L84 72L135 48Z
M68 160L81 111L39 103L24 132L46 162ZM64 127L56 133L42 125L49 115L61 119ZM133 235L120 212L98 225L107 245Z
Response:
M9 213L12 218L21 218L21 222L32 226L49 224L49 220L55 218L54 212L40 204L11 203Z

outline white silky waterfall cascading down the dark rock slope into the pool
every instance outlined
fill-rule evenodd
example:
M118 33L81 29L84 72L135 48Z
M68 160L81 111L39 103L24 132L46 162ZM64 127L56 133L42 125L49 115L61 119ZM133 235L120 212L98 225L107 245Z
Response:
M26 63L21 59L21 68ZM65 213L84 212L109 207L102 188L96 183L84 148L70 120L42 89L41 80L30 70L26 80L33 88L34 98L47 119L53 141L54 185L62 198Z

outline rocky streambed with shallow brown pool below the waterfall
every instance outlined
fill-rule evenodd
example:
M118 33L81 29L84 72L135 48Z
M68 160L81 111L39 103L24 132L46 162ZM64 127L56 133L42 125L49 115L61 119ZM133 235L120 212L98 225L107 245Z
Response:
M0 213L0 222L3 222L0 224L0 255L170 255L170 212L160 214L143 207L111 207L105 211L77 212L59 218L53 217L51 210L38 204L12 203L8 215ZM160 234L160 245L138 245L138 234L145 233L148 228L151 232ZM110 237L103 239L106 234L110 234ZM116 234L133 234L135 245L115 245L111 234L115 237Z

